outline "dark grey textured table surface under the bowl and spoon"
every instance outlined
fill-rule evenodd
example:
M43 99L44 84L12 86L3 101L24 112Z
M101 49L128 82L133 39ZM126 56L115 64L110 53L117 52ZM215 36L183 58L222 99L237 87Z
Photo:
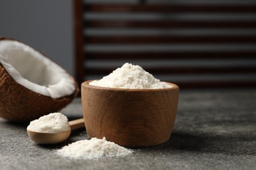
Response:
M61 110L70 120L82 116L81 99ZM74 131L61 144L39 145L28 124L0 118L0 169L256 169L256 90L181 90L171 139L133 148L124 158L72 160L56 150L88 139Z

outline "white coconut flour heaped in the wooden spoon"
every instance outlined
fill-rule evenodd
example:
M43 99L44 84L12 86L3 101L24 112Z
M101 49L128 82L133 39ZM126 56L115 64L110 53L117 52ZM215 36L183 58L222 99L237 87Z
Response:
M30 131L38 131L45 133L60 133L70 130L68 118L60 112L53 112L45 116L41 116L37 120L30 122L27 127Z

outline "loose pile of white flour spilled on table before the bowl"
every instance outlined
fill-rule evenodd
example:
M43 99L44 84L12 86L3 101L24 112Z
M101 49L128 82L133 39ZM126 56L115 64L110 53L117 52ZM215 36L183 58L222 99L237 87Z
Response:
M116 143L106 141L106 138L81 140L57 150L57 154L73 159L92 160L102 157L127 156L133 151Z

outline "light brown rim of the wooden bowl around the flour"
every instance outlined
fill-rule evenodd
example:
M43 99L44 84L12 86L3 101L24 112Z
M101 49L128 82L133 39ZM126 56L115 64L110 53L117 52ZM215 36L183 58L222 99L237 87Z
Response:
M165 82L167 84L171 84L171 88L146 88L146 89L135 89L135 88L108 88L108 87L102 87L102 86L93 86L90 85L89 82L92 82L94 80L86 80L82 82L81 88L93 88L97 90L114 90L114 91L123 91L123 92L156 92L156 91L168 91L168 90L179 90L179 86L177 84L174 84L172 82ZM163 81L164 82L164 81Z

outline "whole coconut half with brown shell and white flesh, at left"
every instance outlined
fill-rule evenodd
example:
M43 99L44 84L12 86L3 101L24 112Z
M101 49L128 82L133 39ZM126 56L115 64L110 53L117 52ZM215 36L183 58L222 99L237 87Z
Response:
M74 78L32 47L0 38L0 116L28 122L58 112L77 95Z

